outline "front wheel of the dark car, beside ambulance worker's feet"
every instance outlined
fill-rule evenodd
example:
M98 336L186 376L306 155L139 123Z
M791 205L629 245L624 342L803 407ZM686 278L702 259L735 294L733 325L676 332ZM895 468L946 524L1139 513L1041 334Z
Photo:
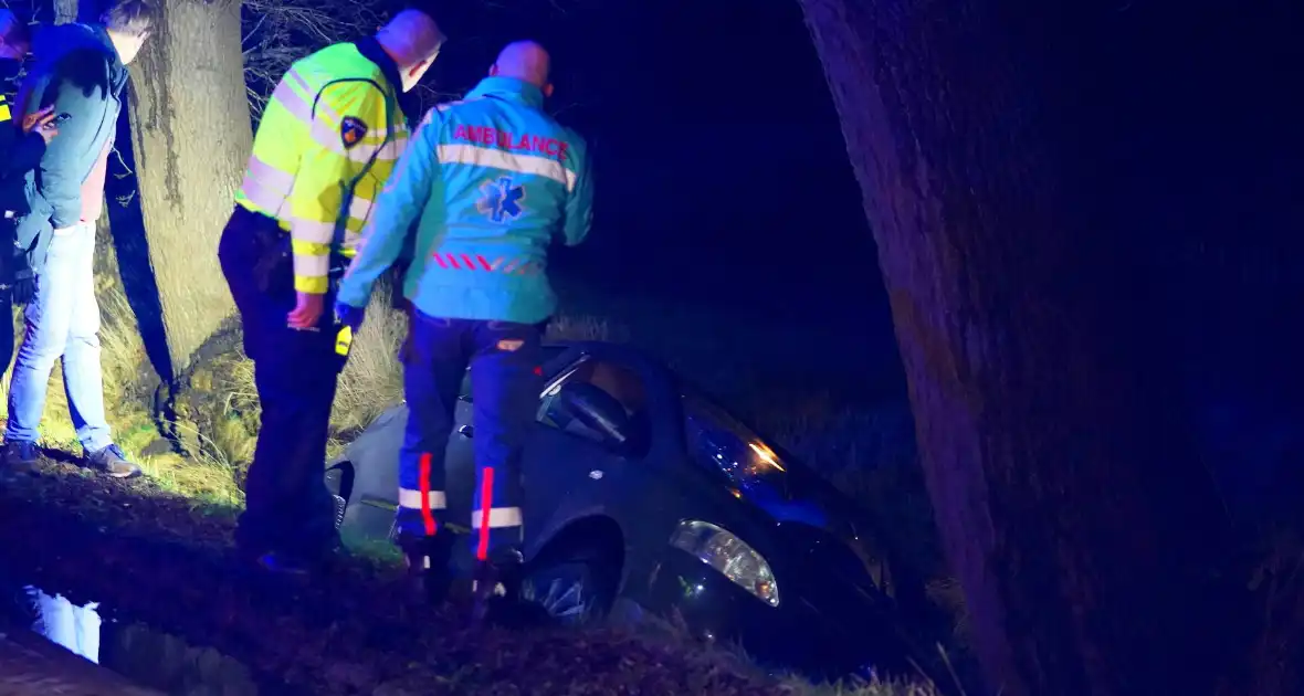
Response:
M558 626L599 623L612 609L617 572L595 549L549 553L527 566L522 600L540 605Z

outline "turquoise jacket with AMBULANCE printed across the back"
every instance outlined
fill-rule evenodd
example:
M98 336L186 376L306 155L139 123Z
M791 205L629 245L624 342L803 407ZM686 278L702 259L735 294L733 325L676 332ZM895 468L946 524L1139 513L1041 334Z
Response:
M419 223L403 295L424 314L522 323L552 315L548 246L588 235L593 179L584 138L542 106L539 87L489 77L426 113L339 300L365 306Z

